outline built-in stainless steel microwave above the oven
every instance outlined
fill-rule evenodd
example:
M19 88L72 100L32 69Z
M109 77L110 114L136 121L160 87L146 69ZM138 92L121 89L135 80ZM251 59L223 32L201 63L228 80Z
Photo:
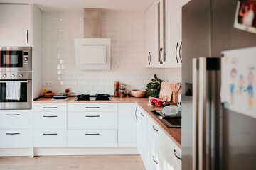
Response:
M0 47L0 72L32 71L32 47Z

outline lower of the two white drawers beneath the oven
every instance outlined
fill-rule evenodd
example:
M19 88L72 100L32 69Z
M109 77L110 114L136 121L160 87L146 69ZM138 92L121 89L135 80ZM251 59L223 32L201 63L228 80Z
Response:
M0 130L0 148L32 147L31 130Z

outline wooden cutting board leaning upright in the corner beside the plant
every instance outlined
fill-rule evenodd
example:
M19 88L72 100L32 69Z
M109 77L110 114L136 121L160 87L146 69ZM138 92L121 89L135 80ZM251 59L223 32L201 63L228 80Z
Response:
M171 101L171 96L173 94L172 92L175 89L175 85L176 83L161 83L159 98L162 98L164 101Z

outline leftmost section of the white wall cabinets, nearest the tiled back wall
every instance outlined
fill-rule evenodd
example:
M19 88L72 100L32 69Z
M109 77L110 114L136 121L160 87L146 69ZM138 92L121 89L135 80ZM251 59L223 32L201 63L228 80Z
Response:
M158 67L158 1L146 10L146 67Z

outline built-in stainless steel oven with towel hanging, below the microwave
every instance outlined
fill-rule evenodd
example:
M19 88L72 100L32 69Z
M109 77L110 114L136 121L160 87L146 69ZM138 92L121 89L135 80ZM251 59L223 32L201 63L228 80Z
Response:
M32 72L0 72L0 109L31 109L32 107ZM6 82L20 83L19 100L6 98Z

